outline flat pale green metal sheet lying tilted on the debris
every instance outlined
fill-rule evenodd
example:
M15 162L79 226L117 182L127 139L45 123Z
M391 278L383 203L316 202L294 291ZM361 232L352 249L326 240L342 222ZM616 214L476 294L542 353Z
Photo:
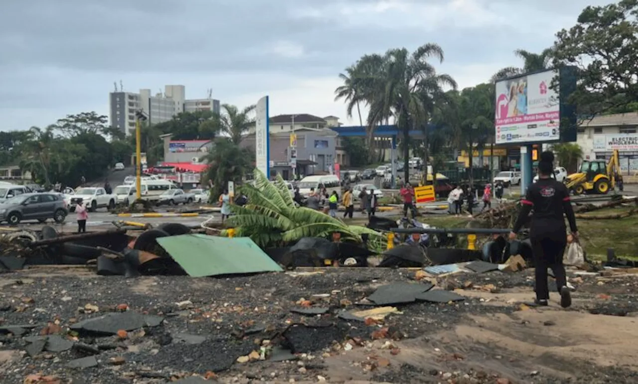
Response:
M159 237L157 242L193 277L283 271L249 237L188 234Z

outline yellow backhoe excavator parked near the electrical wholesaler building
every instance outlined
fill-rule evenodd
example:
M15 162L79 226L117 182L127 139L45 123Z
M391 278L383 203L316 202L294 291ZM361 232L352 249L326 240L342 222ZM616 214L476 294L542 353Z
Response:
M565 184L575 195L583 193L598 193L605 195L616 187L620 172L618 150L612 151L611 159L584 160L581 169L575 174L567 176Z

